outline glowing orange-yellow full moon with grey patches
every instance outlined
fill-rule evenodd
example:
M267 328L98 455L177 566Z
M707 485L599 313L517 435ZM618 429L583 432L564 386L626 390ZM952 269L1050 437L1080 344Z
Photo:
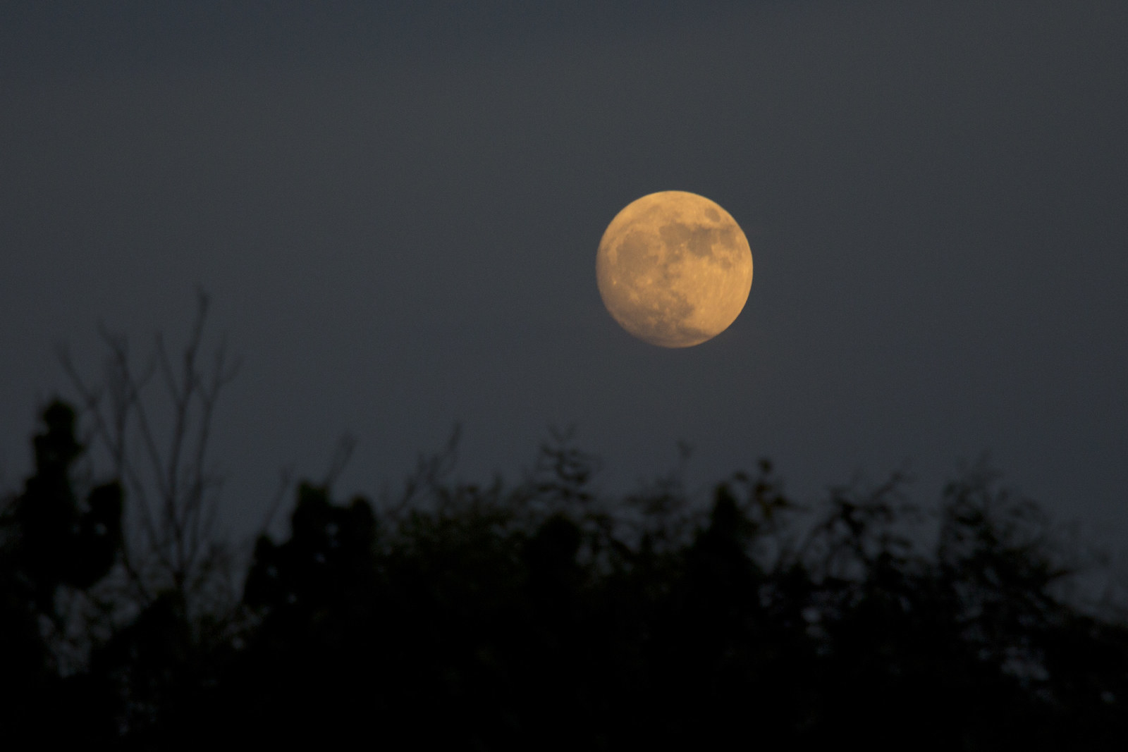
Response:
M690 347L740 316L752 287L752 250L721 206L663 191L627 204L607 225L596 281L624 329L652 345Z

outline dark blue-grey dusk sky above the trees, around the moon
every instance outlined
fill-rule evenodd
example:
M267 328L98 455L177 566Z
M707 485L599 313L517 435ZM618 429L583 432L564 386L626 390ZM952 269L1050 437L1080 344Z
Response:
M345 432L337 495L377 496L456 423L477 481L574 425L608 490L685 441L695 489L769 457L927 503L989 452L1128 558L1128 3L323 5L0 10L2 487L58 348L180 343L199 284L236 530ZM687 350L594 278L669 189L755 258Z

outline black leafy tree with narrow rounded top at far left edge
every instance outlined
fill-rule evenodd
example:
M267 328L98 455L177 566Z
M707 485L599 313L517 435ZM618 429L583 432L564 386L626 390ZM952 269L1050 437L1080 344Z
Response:
M103 688L70 675L70 663L88 639L83 631L97 627L88 591L121 547L122 489L96 486L80 502L71 471L85 448L74 410L53 401L42 421L35 474L0 511L0 728L9 738L59 742L109 727ZM81 729L52 723L58 714Z

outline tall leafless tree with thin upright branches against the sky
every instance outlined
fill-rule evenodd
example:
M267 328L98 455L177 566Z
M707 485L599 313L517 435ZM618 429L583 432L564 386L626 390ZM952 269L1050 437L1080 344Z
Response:
M78 391L89 440L109 455L129 502L122 565L130 596L144 608L173 594L190 616L228 600L230 551L217 536L221 478L208 450L222 388L238 362L222 338L204 353L208 295L183 350L174 355L158 334L140 368L126 337L105 328L109 350L105 381L85 379L63 351L60 360Z

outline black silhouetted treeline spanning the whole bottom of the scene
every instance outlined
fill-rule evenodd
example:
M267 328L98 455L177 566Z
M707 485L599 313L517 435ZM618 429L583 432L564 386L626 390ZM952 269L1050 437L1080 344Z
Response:
M6 749L1128 741L1128 627L1060 595L1072 552L984 476L925 536L896 479L803 511L765 462L696 512L676 479L601 498L554 441L513 487L441 461L396 504L301 484L224 590L175 560L184 530L131 543L126 484L76 472L74 424L43 412L0 516Z

